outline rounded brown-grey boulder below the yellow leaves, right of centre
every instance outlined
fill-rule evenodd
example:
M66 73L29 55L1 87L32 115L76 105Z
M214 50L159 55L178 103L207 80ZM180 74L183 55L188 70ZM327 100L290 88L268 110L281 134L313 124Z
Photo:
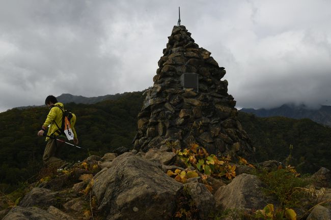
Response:
M263 209L268 199L262 193L262 182L254 175L241 174L214 194L216 205L226 209Z

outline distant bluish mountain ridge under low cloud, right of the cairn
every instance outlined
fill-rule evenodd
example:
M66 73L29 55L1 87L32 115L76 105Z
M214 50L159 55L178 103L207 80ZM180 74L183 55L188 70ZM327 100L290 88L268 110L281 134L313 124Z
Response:
M305 105L284 104L272 109L243 108L241 112L253 113L259 117L283 116L288 118L309 118L317 123L331 127L331 106L321 106L319 109L309 109Z

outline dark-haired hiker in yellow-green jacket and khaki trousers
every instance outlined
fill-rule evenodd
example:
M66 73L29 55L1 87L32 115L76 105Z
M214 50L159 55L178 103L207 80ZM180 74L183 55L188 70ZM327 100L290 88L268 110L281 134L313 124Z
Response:
M65 141L65 135L61 134L61 125L62 125L62 117L63 117L63 109L64 106L62 103L58 102L57 98L54 96L48 96L45 100L45 104L49 108L49 113L47 118L42 125L41 130L38 132L38 136L43 136L47 127L48 132L47 136L57 137L57 139ZM72 114L72 118L70 120L71 129L74 134L73 142L78 144L77 134L74 129L74 124L76 122L76 116ZM64 142L57 141L56 139L52 139L46 137L47 144L45 147L43 162L45 166L56 166L56 167L64 167L68 163L58 158L61 147L64 145Z

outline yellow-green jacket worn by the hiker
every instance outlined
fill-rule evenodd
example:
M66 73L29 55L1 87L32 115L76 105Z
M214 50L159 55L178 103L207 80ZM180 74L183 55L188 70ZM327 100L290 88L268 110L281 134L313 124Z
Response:
M59 136L59 135L61 135L58 130L59 130L59 128L61 128L61 125L62 125L63 112L62 112L61 108L56 107L56 106L60 106L60 107L64 108L63 104L60 103L60 102L54 104L54 106L52 106L50 108L49 113L47 115L47 118L46 118L44 124L42 125L42 129L44 129L44 130L46 130L48 125L49 125L48 132L47 132L48 136L51 136L51 135ZM77 138L77 134L76 134L76 131L75 131L75 128L74 128L75 123L76 123L76 116L73 114L73 116L70 120L71 130L74 134L74 138ZM57 125L59 126L59 128L58 128ZM48 139L49 138L46 137L46 141Z

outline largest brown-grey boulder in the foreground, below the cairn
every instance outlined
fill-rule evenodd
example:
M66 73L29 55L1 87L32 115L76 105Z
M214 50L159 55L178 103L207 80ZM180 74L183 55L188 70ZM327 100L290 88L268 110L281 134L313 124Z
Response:
M124 153L93 179L93 194L107 219L171 219L182 183L161 165Z

